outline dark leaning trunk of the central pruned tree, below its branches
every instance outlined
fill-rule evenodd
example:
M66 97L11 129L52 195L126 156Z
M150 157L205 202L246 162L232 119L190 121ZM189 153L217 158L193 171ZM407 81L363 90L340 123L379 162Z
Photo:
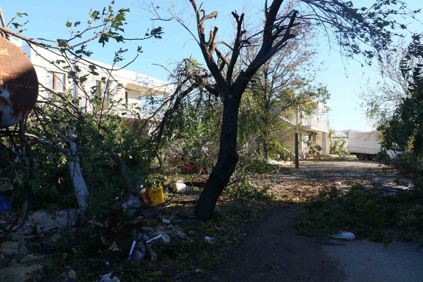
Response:
M207 220L211 217L217 199L219 199L223 189L228 185L239 160L236 152L236 137L238 134L240 99L234 96L232 94L222 95L225 100L223 102L219 155L194 209L195 215L200 220Z

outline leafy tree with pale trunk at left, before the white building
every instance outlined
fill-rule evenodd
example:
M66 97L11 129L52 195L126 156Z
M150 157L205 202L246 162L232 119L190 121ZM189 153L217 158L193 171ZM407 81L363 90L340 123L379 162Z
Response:
M15 199L33 194L38 207L79 206L104 211L139 189L148 171L156 168L156 140L148 132L159 124L158 116L165 108L172 108L177 94L151 101L157 105L152 112L146 112L139 103L122 103L124 86L115 72L134 62L142 53L141 47L133 50L134 58L126 64L129 50L118 47L111 55L111 66L91 60L93 52L89 47L96 41L104 47L110 39L119 44L126 40L160 39L162 28L153 28L141 38L126 38L123 27L130 11L115 9L113 4L114 1L103 9L91 9L85 24L68 20L64 25L70 34L67 39L36 41L23 36L24 30L0 28L3 33L26 41L44 60L45 64L35 65L36 68L55 76L65 86L62 91L40 82L39 99L21 123L21 130L10 127L0 133L5 145L1 177L13 184L10 193ZM18 13L16 17L22 15L28 16ZM51 67L46 69L45 65ZM64 73L64 77L51 72L52 68ZM94 86L93 77L99 80ZM150 92L156 91L152 88ZM74 187L73 191L70 187Z

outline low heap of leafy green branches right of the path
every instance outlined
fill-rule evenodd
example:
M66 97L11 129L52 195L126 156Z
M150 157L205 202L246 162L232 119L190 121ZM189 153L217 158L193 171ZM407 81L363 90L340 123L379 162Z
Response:
M358 237L389 243L392 230L406 241L423 237L423 199L387 195L378 184L352 184L350 191L329 188L308 200L297 227L301 234L329 237L348 230Z

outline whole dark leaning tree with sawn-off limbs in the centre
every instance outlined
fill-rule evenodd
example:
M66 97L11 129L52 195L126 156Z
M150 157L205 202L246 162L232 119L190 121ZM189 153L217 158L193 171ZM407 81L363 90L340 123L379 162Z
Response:
M217 163L214 166L206 187L203 189L194 213L199 219L210 218L217 199L228 184L236 163L239 160L236 152L236 139L238 132L238 113L242 94L250 80L275 53L282 50L290 39L296 36L295 27L313 25L327 34L341 46L341 54L353 57L362 54L368 64L378 51L386 49L393 35L385 29L400 25L390 18L396 14L401 16L412 15L413 11L405 9L403 1L390 3L376 0L370 8L353 8L352 2L343 0L303 0L287 3L288 8L283 9L283 0L274 0L270 5L264 1L264 25L261 30L247 32L244 29L244 14L231 14L235 20L236 36L232 44L217 40L217 26L207 32L204 23L208 19L217 17L217 11L206 13L195 0L190 0L194 11L196 28L190 30L189 26L179 16L172 16L195 38L201 49L207 68L214 79L209 91L220 96L223 103L223 118L220 133L220 150ZM389 6L399 4L398 10ZM152 9L157 13L155 8ZM172 11L171 11L172 12ZM160 17L159 17L160 18ZM401 28L405 26L401 25ZM245 69L237 70L236 63L242 48L250 46L254 40L259 40L259 50ZM331 42L331 41L330 41ZM369 47L369 48L366 48ZM225 48L226 54L220 50Z

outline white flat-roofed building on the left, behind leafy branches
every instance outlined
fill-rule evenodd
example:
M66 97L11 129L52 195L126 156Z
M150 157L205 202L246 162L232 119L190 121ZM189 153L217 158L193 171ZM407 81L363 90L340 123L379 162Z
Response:
M173 84L159 80L155 77L143 75L128 69L119 69L116 66L113 67L110 64L105 64L103 62L87 58L79 59L74 56L63 58L60 53L57 53L54 50L46 50L34 45L31 48L29 45L24 45L20 39L12 38L11 41L20 47L20 49L30 59L36 70L39 83L58 92L65 92L70 89L73 97L82 98L80 100L80 106L85 106L87 111L92 110L93 104L88 102L89 99L87 99L86 93L90 93L93 90L99 97L104 97L104 95L113 95L110 99L113 99L115 104L119 104L115 108L121 108L121 111L118 111L118 114L120 114L123 118L136 118L136 116L130 116L126 110L127 108L140 112L141 118L148 117L159 105L162 105L169 94L173 93ZM64 66L69 65L67 63L60 62L63 60L71 61L72 69L69 69L69 67L63 69ZM50 64L49 61L57 62L57 66ZM95 72L97 72L98 75L93 75L90 73L90 63L102 66L104 69L97 67ZM79 87L67 77L67 71L75 71L77 68L81 69L78 76L87 75L87 80ZM110 77L105 69L112 68L117 70L113 70L113 77ZM109 81L109 83L104 83L104 81L102 81L102 77L106 77L106 81ZM85 88L85 91L81 90L80 87ZM105 87L108 88L107 91L104 91ZM42 100L46 98L46 95L48 95L48 92L44 90L45 89L40 86L38 100ZM116 101L120 102L117 103ZM165 109L166 105L162 107L160 112ZM123 116L122 113L126 114Z

